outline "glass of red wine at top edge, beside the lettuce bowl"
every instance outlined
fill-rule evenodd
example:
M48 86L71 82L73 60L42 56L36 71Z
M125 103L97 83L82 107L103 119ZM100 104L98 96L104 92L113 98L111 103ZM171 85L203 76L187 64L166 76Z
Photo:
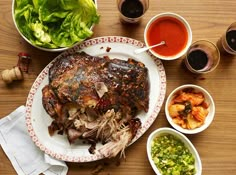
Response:
M124 23L138 23L149 7L149 0L117 0L120 19Z

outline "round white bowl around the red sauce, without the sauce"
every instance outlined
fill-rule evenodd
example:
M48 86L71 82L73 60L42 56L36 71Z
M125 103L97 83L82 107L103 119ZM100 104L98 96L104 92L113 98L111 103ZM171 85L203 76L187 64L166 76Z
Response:
M147 23L146 27L145 27L145 30L144 30L144 41L145 41L145 44L147 47L150 46L150 44L148 43L148 40L147 40L147 34L148 34L148 30L149 30L149 27L151 26L151 24L153 24L155 21L159 20L160 18L163 18L163 17L172 17L172 18L175 18L177 21L179 21L180 23L182 23L186 30L187 30L187 36L188 36L188 40L187 40L187 43L185 45L185 47L177 54L175 55L171 55L171 56L164 56L164 55L161 55L155 51L153 51L152 49L149 49L149 51L154 55L156 56L157 58L160 58L162 60L175 60L175 59L178 59L180 57L182 57L188 50L188 48L190 47L191 43L192 43L192 30L191 30L191 27L190 25L188 24L188 22L180 15L178 14L175 14L175 13L171 13L171 12L166 12L166 13L160 13L156 16L154 16L153 18L151 18L149 20L149 22ZM154 36L153 36L154 37ZM176 38L178 40L178 38ZM157 43L156 43L157 44ZM166 43L168 45L168 43ZM162 46L160 46L162 47Z

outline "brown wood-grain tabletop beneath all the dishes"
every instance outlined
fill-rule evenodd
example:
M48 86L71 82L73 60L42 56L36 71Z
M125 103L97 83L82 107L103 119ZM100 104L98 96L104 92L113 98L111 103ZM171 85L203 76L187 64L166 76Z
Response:
M115 1L98 0L100 23L94 28L93 37L121 35L144 41L143 32L148 20L161 12L182 15L191 25L193 41L208 39L214 43L227 26L236 21L236 1L230 0L150 0L150 8L140 25L122 25L119 21ZM37 75L59 53L40 51L18 34L12 21L11 1L0 1L0 71L17 64L18 53L27 52L32 57L29 73L24 81L7 86L0 81L0 118L20 105L24 105L28 92ZM167 76L166 96L177 86L193 83L206 88L215 100L216 114L213 123L204 132L188 136L198 150L203 175L235 174L236 172L236 59L222 55L217 69L209 74L197 76L182 66L182 60L162 61ZM155 129L168 126L164 107L150 129L126 150L126 159L103 160L93 163L68 163L69 175L92 174L98 168L101 175L154 174L146 155L148 135ZM30 165L29 165L30 166ZM10 161L0 148L0 174L16 174Z

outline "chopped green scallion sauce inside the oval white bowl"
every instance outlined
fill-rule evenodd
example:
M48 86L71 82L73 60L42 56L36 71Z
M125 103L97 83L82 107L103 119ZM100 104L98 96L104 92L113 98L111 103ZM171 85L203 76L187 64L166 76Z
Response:
M195 159L177 137L167 134L156 137L151 145L152 159L162 175L193 175Z

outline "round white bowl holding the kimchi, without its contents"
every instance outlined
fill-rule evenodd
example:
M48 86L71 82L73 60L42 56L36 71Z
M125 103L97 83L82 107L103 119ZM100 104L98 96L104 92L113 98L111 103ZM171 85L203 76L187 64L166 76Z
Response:
M182 128L180 125L176 124L173 122L172 117L169 114L169 104L171 102L171 100L174 98L175 94L177 92L179 92L180 90L186 89L186 88L193 88L194 92L202 92L204 94L205 97L205 102L209 105L208 107L208 115L206 117L206 120L204 122L203 125L201 125L198 128L195 129L184 129ZM193 85L193 84L186 84L186 85L182 85L177 87L176 89L174 89L170 95L168 96L166 103L165 103L165 114L166 114L166 118L168 120L168 122L170 123L170 125L175 128L176 130L185 133L185 134L196 134L199 132L202 132L203 130L205 130L213 121L214 116L215 116L215 103L213 101L213 98L211 97L211 95L207 92L207 90L205 90L204 88L197 86L197 85Z

